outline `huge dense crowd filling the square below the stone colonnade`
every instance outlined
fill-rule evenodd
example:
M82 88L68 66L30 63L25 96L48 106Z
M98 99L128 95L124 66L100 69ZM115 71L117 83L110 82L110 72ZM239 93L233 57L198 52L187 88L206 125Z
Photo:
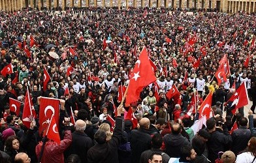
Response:
M0 162L256 162L254 18L170 8L1 12ZM120 88L129 85L143 47L157 80L125 105L129 96ZM223 56L230 71L219 83ZM12 73L3 73L10 64ZM252 103L248 117L228 101L242 83ZM172 85L179 96L169 99ZM22 119L27 91L38 115L29 128ZM210 92L212 117L194 132ZM42 97L64 101L60 143L38 130ZM22 102L18 115L10 98Z

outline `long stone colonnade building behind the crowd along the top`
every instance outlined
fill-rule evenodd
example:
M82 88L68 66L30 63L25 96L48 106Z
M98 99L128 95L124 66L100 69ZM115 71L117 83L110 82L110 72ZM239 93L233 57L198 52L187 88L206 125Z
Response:
M256 0L0 0L0 10L14 11L24 7L167 7L252 13L256 11L255 3Z

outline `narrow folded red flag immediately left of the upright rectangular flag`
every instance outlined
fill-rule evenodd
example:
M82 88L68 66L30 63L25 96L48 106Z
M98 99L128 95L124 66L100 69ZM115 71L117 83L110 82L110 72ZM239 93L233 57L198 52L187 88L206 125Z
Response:
M24 101L24 110L22 114L22 121L24 126L27 128L30 128L30 123L37 118L37 115L35 113L35 109L29 94L29 89L27 88L27 92L25 95L25 101Z

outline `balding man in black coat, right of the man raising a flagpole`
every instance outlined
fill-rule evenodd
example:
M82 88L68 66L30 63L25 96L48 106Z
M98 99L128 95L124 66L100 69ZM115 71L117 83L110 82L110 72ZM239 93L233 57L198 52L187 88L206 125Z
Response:
M150 119L142 118L140 119L140 128L138 130L131 131L131 153L132 162L140 162L140 155L151 149L151 136L150 136Z

